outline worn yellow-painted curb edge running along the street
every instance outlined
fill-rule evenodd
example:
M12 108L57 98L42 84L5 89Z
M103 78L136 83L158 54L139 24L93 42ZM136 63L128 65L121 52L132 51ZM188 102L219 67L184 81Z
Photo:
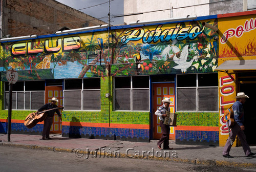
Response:
M9 147L28 148L28 149L51 150L54 152L75 153L75 151L76 151L76 150L70 149L70 148L26 145L26 144L7 143L7 142L0 142L0 145L1 146L9 146ZM95 150L92 150L92 151L89 150L89 152L83 151L82 154L89 154L89 155L95 156ZM108 157L107 153L97 152L97 155L99 157ZM109 156L109 157L117 158L115 156ZM143 156L135 156L135 155L127 155L127 154L120 154L120 158L170 161L170 162L178 162L178 163L197 164L197 165L217 165L217 166L256 168L256 164L253 164L253 163L237 163L237 162L220 161L220 160L202 160L202 159L198 159L198 158L197 159L182 159L182 158L178 158L178 157L174 157L174 158L162 158L162 157L150 157L150 156L143 157Z

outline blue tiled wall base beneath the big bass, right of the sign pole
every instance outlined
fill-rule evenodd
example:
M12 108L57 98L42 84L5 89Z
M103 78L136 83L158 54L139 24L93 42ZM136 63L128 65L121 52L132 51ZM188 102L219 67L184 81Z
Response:
M33 128L28 128L24 123L12 123L12 134L41 135L44 124L36 124Z

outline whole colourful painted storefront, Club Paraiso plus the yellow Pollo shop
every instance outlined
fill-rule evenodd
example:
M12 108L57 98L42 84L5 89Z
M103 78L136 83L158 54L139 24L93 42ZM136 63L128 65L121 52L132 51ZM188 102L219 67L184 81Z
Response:
M28 129L24 119L57 97L63 121L54 118L53 133L148 142L161 137L154 113L169 97L171 111L178 114L170 139L222 146L228 137L224 110L237 92L254 96L255 69L221 67L255 59L255 17L250 11L1 39L1 131L6 132L8 117L6 73L13 68L18 82L12 133L40 134L42 123ZM248 116L251 121L253 115ZM252 138L251 129L246 136Z

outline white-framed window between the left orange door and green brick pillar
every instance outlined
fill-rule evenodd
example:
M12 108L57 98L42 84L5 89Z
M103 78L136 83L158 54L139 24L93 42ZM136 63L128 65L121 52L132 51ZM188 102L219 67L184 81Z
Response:
M65 79L65 110L100 111L100 78Z

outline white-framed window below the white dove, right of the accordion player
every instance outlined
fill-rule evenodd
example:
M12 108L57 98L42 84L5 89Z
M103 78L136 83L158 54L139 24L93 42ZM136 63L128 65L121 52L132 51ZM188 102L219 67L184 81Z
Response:
M178 74L177 111L218 111L218 74Z

